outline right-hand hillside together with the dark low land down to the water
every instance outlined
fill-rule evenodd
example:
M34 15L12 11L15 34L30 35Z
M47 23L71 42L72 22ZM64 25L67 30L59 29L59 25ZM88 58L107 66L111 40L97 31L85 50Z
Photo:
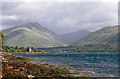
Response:
M91 32L88 36L72 43L67 47L44 49L47 52L118 52L118 31L119 26L107 26L97 31Z

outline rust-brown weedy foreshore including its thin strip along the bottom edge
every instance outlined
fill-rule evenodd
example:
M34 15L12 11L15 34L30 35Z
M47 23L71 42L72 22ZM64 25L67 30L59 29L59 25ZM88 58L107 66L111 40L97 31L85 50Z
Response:
M34 59L2 54L2 78L37 78L37 79L115 79L109 77L73 76L80 72L71 72L74 68L60 68L49 64L33 64Z

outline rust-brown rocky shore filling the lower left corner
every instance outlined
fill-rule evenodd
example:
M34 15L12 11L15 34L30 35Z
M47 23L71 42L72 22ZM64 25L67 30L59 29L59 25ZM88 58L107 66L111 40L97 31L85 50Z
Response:
M64 68L29 63L29 58L22 58L4 53L2 58L2 76L5 77L65 77L69 70Z

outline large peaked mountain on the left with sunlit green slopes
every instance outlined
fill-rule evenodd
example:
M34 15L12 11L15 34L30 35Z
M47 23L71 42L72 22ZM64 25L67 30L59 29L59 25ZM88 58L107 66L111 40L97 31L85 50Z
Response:
M3 30L3 33L5 34L5 45L9 46L36 48L65 46L55 33L37 22L6 29Z

